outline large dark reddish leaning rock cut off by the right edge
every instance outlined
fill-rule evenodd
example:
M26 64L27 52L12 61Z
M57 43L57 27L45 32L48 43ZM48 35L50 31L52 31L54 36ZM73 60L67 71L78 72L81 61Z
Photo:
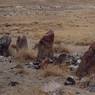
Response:
M90 45L88 51L83 55L76 75L81 78L90 73L95 73L95 42Z

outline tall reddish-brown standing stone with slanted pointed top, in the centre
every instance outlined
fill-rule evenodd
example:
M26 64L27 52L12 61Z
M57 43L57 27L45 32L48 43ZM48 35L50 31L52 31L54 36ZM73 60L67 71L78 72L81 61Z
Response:
M39 41L38 45L38 59L42 60L46 57L53 57L53 43L54 43L54 32L49 30L42 39Z

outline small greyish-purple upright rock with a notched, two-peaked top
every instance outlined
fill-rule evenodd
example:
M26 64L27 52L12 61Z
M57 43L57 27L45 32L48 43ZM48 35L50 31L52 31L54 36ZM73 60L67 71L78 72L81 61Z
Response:
M28 42L26 36L18 36L17 41L16 41L16 46L17 46L17 51L19 49L26 49L28 48Z

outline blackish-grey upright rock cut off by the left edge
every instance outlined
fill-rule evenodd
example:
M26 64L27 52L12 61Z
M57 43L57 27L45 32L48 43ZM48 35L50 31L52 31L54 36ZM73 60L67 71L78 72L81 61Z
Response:
M0 55L9 56L9 46L11 44L11 37L9 35L4 35L0 38Z

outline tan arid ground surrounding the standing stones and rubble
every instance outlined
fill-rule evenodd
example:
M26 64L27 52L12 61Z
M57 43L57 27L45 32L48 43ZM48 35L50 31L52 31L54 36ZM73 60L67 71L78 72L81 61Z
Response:
M26 35L33 50L49 29L55 33L55 51L65 47L82 55L95 41L95 0L0 0L0 36L10 33L15 43L17 36ZM27 62L1 59L0 95L95 95L77 85L64 86L71 75L64 66L35 70ZM18 64L20 68L11 69ZM10 81L19 84L11 87Z

